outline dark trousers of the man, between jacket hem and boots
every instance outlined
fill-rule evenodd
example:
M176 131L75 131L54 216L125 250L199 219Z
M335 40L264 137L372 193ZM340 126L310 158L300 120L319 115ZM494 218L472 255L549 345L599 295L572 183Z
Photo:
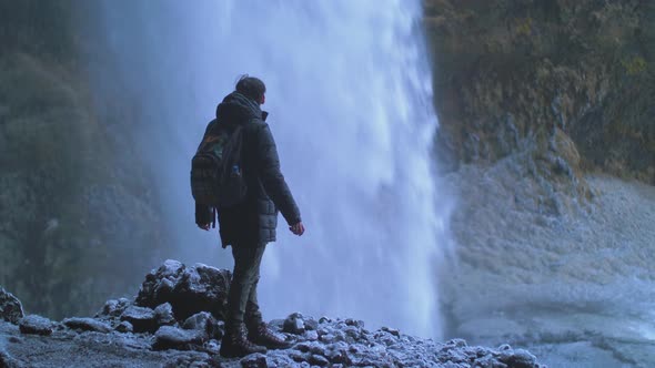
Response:
M260 280L260 265L266 243L232 244L234 272L228 295L226 327L236 328L245 321L253 326L262 321L262 314L256 300L256 285Z

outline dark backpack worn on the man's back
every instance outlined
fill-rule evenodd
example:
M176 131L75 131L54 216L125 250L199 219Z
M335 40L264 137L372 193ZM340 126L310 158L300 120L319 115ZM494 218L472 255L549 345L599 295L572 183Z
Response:
M241 151L243 125L214 122L191 160L191 194L196 203L214 208L233 206L245 198Z

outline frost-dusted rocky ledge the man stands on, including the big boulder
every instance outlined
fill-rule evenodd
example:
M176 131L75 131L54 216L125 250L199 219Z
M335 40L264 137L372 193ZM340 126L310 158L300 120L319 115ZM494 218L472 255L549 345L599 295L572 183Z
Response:
M62 325L79 330L100 331L101 334L74 335L68 330L54 333L58 337L63 334L72 336L74 341L57 340L57 346L67 349L66 344L84 346L93 349L95 345L111 346L112 355L115 349L121 351L148 351L148 356L139 355L132 360L125 360L124 366L133 366L134 361L152 359L152 366L165 367L220 367L223 364L242 367L491 367L491 368L538 368L536 358L525 350L512 349L508 345L497 349L470 347L465 340L453 339L439 344L431 339L415 338L403 335L399 330L383 327L376 331L369 331L364 323L357 319L321 318L300 313L289 315L286 319L269 323L276 333L285 334L293 346L288 349L270 350L266 355L251 355L239 359L225 360L220 357L220 339L224 334L224 323L219 320L211 310L199 310L181 319L175 309L175 303L182 298L201 300L204 307L223 303L220 293L225 292L225 285L216 287L210 285L216 279L223 279L223 272L204 265L184 267L177 262L167 262L158 270L151 273L142 286L142 303L152 303L151 307L130 304L128 299L109 300L99 311L98 318L67 318ZM229 280L229 278L228 278ZM222 283L222 282L221 282ZM221 292L223 290L223 292ZM154 305L153 299L144 296L159 297L167 295L170 301ZM144 301L145 300L145 301ZM177 300L177 301L175 301ZM190 303L184 300L183 303ZM204 301L202 301L204 300ZM183 304L178 304L180 307ZM202 307L202 308L204 308ZM180 307L179 310L191 310L191 306ZM187 309L184 309L187 308ZM193 308L196 308L193 307ZM0 327L3 326L0 324ZM4 326L16 329L14 326ZM28 316L20 320L19 327L23 334L48 335L57 326L47 318ZM111 333L111 327L120 334ZM131 334L135 333L135 334ZM151 335L152 334L152 335ZM26 356L31 354L28 344L34 339L23 336L23 341L14 344L14 351L23 350ZM11 340L10 340L11 341ZM114 344L117 343L117 344ZM61 344L61 345L60 345ZM80 345L81 344L81 345ZM16 349L19 347L20 349ZM31 347L31 346L30 346ZM153 352L160 350L180 350ZM0 349L0 352L2 350ZM50 354L50 352L48 352ZM127 355L131 352L125 352ZM127 356L125 355L125 356ZM23 357L19 357L23 359ZM1 357L0 357L1 358ZM43 356L43 361L47 361ZM30 358L31 359L31 358ZM117 365L122 365L117 358ZM36 366L41 361L30 360ZM67 360L68 362L68 360ZM148 365L144 362L144 365ZM7 366L0 364L1 368ZM80 366L80 365L77 365ZM150 365L148 365L150 366Z

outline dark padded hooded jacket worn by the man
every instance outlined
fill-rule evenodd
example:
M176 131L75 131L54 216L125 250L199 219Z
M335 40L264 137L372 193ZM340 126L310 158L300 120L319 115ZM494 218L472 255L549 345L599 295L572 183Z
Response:
M268 113L239 92L223 99L216 108L216 119L205 131L218 124L243 124L242 172L248 185L245 200L218 213L221 242L228 245L260 245L275 241L278 209L289 225L301 221L300 211L280 171L275 141L265 123ZM196 224L212 222L212 209L195 204Z

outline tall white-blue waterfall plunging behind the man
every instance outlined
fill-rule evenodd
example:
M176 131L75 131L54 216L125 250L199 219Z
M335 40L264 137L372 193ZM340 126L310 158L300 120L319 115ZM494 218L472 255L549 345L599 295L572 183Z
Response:
M193 225L189 162L216 103L249 73L266 83L263 109L308 227L294 237L280 217L259 287L264 317L299 310L440 337L446 215L419 0L101 8L120 93L138 101L140 144L185 258L231 264L216 234Z

